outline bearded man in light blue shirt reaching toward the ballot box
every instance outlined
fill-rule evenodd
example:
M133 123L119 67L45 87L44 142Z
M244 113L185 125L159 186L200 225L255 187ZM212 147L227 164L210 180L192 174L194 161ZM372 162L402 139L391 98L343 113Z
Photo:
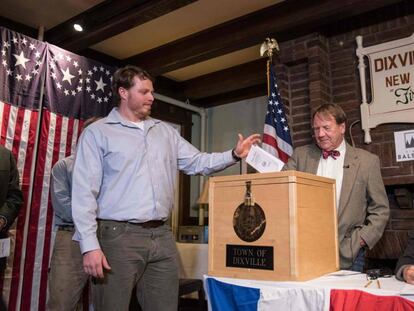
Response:
M201 153L168 124L149 118L151 77L127 66L113 78L118 107L86 129L73 170L72 208L97 310L128 310L134 285L144 311L177 310L175 241L165 224L177 170L210 174L246 157L259 135L233 150Z

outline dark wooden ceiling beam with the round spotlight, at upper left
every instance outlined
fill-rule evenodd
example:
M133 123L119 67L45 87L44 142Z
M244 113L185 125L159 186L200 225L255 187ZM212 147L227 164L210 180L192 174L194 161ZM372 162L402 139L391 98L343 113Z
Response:
M197 0L106 0L46 31L45 38L48 42L77 53L195 1ZM83 33L73 29L76 22L85 28Z

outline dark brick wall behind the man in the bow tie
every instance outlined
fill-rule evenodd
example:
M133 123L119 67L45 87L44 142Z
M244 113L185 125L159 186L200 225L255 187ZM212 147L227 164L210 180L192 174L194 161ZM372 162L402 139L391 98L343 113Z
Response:
M414 123L380 125L371 130L372 143L364 144L364 133L358 122L361 87L355 37L362 35L364 46L370 46L411 35L414 32L414 15L395 15L398 17L390 19L389 15L385 18L385 15L378 14L374 22L369 25L360 22L363 26L356 29L354 26L348 27L352 30L346 30L347 26L341 25L345 30L336 34L313 33L284 42L276 65L280 74L278 80L283 81L280 87L295 147L312 141L310 122L313 109L333 102L346 112L348 126L355 122L352 128L355 146L379 156L390 199L391 218L383 238L368 256L380 259L397 258L405 247L407 232L414 230L412 204L411 208L401 206L395 196L395 192L401 189L413 194L414 161L397 163L394 150L394 132L413 129ZM358 21L348 21L349 24L355 22ZM370 96L368 88L368 99ZM348 129L347 140L350 142L349 134ZM412 200L411 197L408 199Z

